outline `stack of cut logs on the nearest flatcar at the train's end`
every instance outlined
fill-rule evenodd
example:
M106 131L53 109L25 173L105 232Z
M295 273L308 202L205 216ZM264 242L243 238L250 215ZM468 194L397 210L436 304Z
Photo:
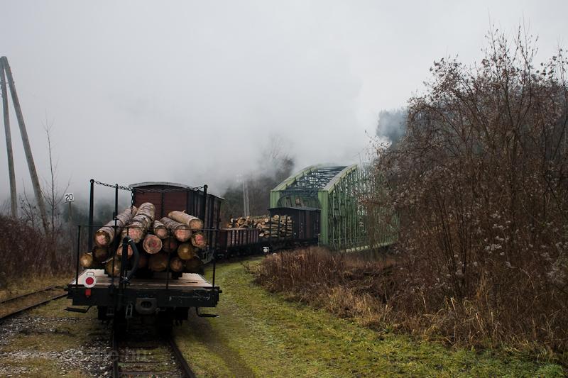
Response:
M117 276L120 272L121 259L126 252L129 268L133 264L133 252L130 245L123 247L121 241L129 235L136 244L140 260L138 268L147 268L153 272L170 271L197 273L202 267L200 257L195 255L197 248L207 247L207 236L202 232L203 221L182 211L172 211L159 221L155 219L155 206L150 202L124 209L99 228L94 235L92 252L85 253L79 259L85 267L102 267L107 274ZM119 248L114 250L114 241L119 237Z

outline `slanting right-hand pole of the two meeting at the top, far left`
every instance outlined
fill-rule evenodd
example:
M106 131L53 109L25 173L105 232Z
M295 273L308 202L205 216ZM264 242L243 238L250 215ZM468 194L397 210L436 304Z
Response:
M10 85L10 94L12 95L13 107L16 111L16 118L18 118L18 125L20 126L20 134L22 135L23 150L26 152L26 160L28 160L28 169L30 170L31 184L33 186L33 192L35 194L35 201L38 203L38 208L40 209L41 221L43 222L43 229L47 234L49 232L49 220L48 213L45 211L45 203L43 202L43 194L41 193L40 180L38 179L38 173L35 172L35 164L33 163L33 156L31 154L30 141L28 139L28 132L26 131L26 124L23 123L23 114L20 106L20 101L18 100L18 94L16 93L16 87L13 84L12 72L10 70L10 65L8 64L8 58L2 57L2 63L4 64L4 71L6 71L6 77L8 77L8 84Z

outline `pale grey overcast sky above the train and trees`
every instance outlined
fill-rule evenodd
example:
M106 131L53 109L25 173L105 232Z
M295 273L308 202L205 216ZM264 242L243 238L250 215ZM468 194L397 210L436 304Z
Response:
M222 183L280 135L296 170L364 160L378 112L421 93L435 60L480 62L491 23L567 48L568 1L6 1L9 60L40 177ZM18 194L33 193L11 97ZM3 134L0 134L3 135ZM5 138L0 199L9 198ZM3 158L1 158L3 157Z

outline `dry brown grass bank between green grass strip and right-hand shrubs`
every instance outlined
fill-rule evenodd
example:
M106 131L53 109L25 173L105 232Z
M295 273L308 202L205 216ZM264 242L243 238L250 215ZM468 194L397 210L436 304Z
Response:
M417 286L427 277L413 261L335 254L309 248L272 255L256 269L256 282L283 293L290 301L310 304L363 326L410 333L466 348L508 345L529 357L564 365L568 318L547 306L548 299L495 298L488 280L480 280L476 295L461 301L445 297L442 287ZM510 291L519 291L517 282ZM517 294L515 294L517 295ZM442 298L440 300L439 298Z

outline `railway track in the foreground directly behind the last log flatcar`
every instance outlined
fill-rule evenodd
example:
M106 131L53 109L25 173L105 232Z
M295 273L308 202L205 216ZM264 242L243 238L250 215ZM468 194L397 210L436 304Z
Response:
M112 377L195 378L172 335L153 320L133 318L128 326L113 326Z

